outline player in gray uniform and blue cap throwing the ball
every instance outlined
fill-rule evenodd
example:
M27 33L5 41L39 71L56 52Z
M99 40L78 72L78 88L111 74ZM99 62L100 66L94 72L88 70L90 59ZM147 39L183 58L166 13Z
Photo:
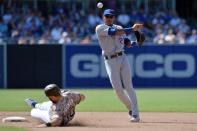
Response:
M138 30L141 29L143 25L134 24L131 28L122 28L119 25L113 24L114 20L115 11L106 9L103 13L104 24L100 24L96 27L96 34L102 49L102 55L105 59L105 67L110 82L119 99L128 108L130 121L139 122L140 117L137 97L132 85L130 65L123 48L124 45L129 48L135 44L141 45L141 42L131 42L126 35L132 32L140 34ZM142 38L144 38L144 36Z

